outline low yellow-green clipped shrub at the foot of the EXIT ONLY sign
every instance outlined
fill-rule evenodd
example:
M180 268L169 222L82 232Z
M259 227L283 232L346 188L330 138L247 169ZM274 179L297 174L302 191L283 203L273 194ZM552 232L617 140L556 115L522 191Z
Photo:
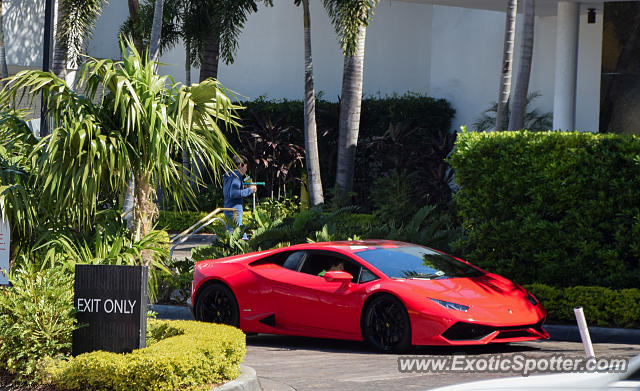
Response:
M196 389L240 374L246 352L242 331L194 321L149 321L149 327L150 342L164 339L128 354L99 351L50 360L50 381L66 390L169 391Z

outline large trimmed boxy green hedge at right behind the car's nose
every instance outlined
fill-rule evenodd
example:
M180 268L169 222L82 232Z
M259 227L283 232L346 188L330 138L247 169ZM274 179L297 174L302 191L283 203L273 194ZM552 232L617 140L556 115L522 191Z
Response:
M640 286L639 156L635 136L460 134L457 252L520 283Z

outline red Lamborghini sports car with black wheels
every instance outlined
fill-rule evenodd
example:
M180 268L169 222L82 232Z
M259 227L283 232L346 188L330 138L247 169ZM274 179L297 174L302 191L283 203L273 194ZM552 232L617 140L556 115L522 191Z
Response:
M300 244L196 264L195 318L246 333L410 345L548 338L546 311L519 285L414 244Z

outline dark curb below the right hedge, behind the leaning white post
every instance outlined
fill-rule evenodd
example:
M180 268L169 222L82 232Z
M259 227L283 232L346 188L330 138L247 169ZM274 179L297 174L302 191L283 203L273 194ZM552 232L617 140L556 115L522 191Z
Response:
M546 324L543 326L552 341L582 342L578 326ZM609 327L589 327L589 335L593 343L640 343L639 329L616 329Z

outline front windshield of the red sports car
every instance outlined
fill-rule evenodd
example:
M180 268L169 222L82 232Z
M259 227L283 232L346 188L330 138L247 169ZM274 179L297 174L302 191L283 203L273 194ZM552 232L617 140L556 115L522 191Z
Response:
M474 277L483 273L457 259L426 247L376 248L357 255L390 278L443 279Z

